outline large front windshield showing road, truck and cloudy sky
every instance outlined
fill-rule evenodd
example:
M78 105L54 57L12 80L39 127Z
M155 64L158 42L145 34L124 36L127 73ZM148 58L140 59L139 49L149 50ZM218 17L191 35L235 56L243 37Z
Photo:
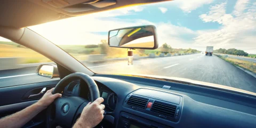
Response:
M109 47L108 31L141 25L156 26L159 47L133 50L128 66L127 49ZM178 77L256 92L255 1L161 2L28 28L97 74Z

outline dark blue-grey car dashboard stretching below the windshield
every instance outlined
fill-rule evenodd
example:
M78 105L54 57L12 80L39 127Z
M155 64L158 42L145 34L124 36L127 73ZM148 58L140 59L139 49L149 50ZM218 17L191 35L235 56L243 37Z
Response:
M95 75L92 78L104 99L105 111L111 112L105 119L113 127L256 125L256 98L252 95L129 76ZM63 95L90 100L86 87L86 83L78 79L69 83Z

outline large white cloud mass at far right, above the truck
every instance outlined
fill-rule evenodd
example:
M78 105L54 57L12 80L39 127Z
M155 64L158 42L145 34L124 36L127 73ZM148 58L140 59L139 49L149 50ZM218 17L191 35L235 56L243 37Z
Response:
M208 13L199 15L204 22L218 22L222 27L199 35L195 38L196 44L242 50L256 47L255 37L253 37L256 33L256 7L244 0L238 0L234 11L227 14L226 4L227 2L223 2L211 6Z

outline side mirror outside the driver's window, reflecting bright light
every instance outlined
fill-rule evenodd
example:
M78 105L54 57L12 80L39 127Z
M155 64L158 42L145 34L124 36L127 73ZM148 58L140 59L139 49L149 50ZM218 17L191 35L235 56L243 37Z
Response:
M36 74L39 76L58 78L59 71L56 65L39 65L36 69Z

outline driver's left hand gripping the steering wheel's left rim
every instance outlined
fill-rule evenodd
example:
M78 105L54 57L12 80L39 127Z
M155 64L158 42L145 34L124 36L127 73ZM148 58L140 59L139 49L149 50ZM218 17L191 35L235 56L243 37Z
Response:
M48 90L43 97L37 102L39 106L43 108L47 108L47 106L51 105L54 99L61 97L60 93L52 94L54 88Z

